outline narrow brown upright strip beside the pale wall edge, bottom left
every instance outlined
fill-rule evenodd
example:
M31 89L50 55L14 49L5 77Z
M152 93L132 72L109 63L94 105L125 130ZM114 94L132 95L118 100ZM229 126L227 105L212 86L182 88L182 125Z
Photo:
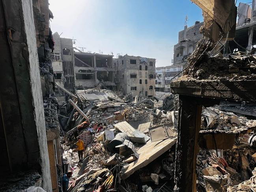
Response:
M47 141L49 161L50 161L50 177L52 180L52 192L58 192L58 177L57 177L57 168L56 168L56 159L55 159L55 150L53 140Z

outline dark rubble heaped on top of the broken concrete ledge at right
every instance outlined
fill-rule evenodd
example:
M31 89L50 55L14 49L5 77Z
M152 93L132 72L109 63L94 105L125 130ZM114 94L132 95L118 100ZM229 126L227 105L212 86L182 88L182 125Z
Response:
M223 58L218 54L210 57L207 54L200 58L200 63L194 66L189 75L182 79L198 80L255 80L256 56L245 52L236 52Z

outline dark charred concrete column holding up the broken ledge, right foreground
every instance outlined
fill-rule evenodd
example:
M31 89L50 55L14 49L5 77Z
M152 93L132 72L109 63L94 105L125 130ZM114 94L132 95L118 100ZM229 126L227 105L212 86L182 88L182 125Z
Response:
M179 95L178 140L174 172L174 192L196 192L196 155L202 105Z

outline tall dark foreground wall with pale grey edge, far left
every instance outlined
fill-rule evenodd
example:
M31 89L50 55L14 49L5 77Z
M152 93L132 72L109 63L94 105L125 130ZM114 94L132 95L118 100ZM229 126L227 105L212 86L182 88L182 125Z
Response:
M0 0L0 7L0 63L6 65L0 71L0 106L9 168L41 169L43 188L51 192L32 0Z

